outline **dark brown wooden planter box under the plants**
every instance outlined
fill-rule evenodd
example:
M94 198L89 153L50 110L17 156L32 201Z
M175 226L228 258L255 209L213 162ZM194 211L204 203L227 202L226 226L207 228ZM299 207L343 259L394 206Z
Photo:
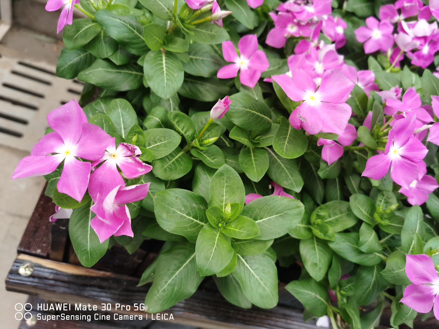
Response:
M43 321L34 328L155 328L158 324L152 315L135 311L134 305L143 304L150 285L137 287L144 269L151 264L162 246L161 241L146 240L132 255L116 244L92 268L79 264L68 239L68 220L49 222L54 204L43 193L38 200L29 224L18 246L18 256L6 279L6 289L31 295L31 313L36 316L38 303L70 303L70 314L94 313L110 315L105 321ZM24 263L31 263L31 275L19 274ZM154 315L154 319L170 317L160 322L160 328L185 328L185 325L202 328L273 328L315 329L314 321L303 323L300 303L280 284L279 304L272 309L252 307L244 310L228 303L216 289L212 279L205 279L197 292L169 310ZM98 311L74 311L75 303L97 305ZM112 311L101 311L101 304L112 304ZM131 309L115 310L116 304L130 305ZM69 314L68 311L39 311L43 314ZM142 315L143 320L114 321L118 315ZM167 316L165 314L168 314ZM176 325L176 326L175 326ZM29 328L27 324L22 328Z

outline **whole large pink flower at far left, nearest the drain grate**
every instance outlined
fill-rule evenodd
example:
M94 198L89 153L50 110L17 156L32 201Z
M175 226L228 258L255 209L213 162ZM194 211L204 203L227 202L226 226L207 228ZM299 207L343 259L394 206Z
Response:
M30 156L18 162L12 179L43 176L54 172L64 160L64 168L57 189L75 200L81 201L88 186L91 163L104 155L111 141L97 125L87 122L83 109L72 100L47 114L47 123L54 132L43 136L34 145ZM56 153L55 155L46 155Z

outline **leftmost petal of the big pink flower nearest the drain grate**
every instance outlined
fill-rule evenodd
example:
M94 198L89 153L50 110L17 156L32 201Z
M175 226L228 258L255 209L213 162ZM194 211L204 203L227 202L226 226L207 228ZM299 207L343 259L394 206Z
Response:
M11 179L43 176L54 172L64 160L64 154L56 155L29 155L18 162Z

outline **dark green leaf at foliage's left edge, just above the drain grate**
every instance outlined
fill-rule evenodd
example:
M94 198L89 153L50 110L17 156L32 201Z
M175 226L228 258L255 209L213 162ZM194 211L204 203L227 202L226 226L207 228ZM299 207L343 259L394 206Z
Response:
M75 79L79 72L88 68L95 58L87 50L61 50L56 64L56 75L64 79Z

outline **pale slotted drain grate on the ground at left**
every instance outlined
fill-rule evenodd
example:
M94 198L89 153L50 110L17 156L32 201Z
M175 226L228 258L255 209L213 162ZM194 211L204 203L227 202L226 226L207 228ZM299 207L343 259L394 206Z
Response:
M47 129L47 113L76 98L83 82L43 62L0 55L0 144L29 151Z

